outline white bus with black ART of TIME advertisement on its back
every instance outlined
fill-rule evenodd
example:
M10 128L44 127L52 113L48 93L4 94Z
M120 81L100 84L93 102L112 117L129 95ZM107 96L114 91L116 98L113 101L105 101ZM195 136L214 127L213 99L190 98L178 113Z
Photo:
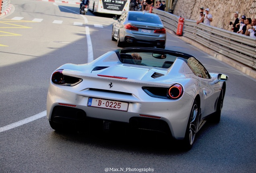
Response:
M121 15L129 10L130 0L89 0L88 9L93 13Z

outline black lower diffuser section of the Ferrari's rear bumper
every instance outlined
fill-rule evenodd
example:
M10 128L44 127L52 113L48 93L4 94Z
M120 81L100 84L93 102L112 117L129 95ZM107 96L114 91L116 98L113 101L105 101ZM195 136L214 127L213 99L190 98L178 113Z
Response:
M118 130L126 127L129 129L143 129L151 131L159 131L171 135L169 125L161 119L151 119L146 117L131 117L128 123L113 121L107 119L97 119L88 117L84 110L73 107L56 106L52 111L50 121L54 123L67 125L71 128L88 129L96 128L103 129L105 122L109 123L109 129ZM126 129L125 128L125 129Z

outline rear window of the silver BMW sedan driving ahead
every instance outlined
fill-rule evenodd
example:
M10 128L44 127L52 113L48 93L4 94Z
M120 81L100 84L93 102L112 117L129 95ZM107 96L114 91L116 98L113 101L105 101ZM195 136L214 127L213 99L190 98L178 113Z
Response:
M128 20L137 22L147 22L153 24L162 24L158 16L147 14L129 14Z

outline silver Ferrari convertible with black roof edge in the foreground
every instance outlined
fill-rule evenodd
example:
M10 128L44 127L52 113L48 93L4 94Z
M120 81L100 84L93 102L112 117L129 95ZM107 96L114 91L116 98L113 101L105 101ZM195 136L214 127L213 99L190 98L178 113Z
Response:
M190 149L206 119L220 121L227 79L209 73L190 54L160 48L113 50L52 73L47 118L56 131L91 123L110 130L122 124L161 131Z

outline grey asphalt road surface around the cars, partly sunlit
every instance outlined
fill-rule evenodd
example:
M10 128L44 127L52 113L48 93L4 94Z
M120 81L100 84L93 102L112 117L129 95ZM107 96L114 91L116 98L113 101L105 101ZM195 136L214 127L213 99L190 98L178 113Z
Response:
M256 172L256 80L172 34L167 49L192 54L210 72L229 75L221 122L206 123L190 151L148 132L55 132L44 112L51 73L117 49L111 41L114 20L80 15L79 5L12 4L0 19L0 173Z

